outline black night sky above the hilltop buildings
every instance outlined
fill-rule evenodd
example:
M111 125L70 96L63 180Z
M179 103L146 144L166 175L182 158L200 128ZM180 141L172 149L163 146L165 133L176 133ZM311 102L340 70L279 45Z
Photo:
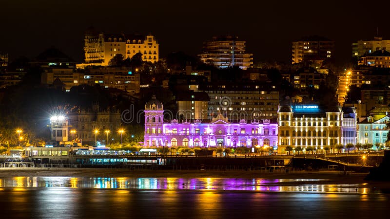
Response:
M169 3L168 3L169 2ZM83 34L91 25L106 33L152 33L160 57L174 51L200 53L215 35L246 40L254 63L289 63L291 42L320 35L336 42L335 58L351 58L351 43L379 35L390 39L390 1L375 6L354 0L1 0L0 51L10 60L33 58L55 46L83 59ZM384 9L385 12L379 12Z

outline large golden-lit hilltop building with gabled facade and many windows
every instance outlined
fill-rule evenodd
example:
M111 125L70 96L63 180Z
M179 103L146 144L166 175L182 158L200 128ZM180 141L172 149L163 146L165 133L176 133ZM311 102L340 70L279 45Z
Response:
M125 34L95 34L87 31L84 36L84 63L78 68L87 65L107 66L111 58L122 54L123 58L132 58L137 53L142 54L143 61L158 61L158 43L153 35Z

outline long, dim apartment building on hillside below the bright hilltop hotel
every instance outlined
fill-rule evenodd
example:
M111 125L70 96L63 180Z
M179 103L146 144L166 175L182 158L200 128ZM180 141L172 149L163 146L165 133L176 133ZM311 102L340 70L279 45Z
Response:
M89 66L85 70L48 68L41 75L41 83L53 85L57 78L64 84L66 91L82 84L99 84L130 94L139 93L139 73L133 73L130 68L125 67Z

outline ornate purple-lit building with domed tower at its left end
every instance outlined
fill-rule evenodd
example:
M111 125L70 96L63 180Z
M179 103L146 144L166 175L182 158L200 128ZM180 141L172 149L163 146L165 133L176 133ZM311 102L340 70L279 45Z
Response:
M259 147L273 146L277 149L277 124L269 120L240 120L230 123L219 114L210 123L178 123L176 119L166 123L161 102L152 97L145 105L145 146L189 147Z

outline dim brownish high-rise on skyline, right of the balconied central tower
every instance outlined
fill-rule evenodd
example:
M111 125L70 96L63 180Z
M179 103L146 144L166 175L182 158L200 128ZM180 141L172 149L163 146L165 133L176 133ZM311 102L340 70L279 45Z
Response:
M322 61L331 58L334 52L334 41L325 37L303 37L292 42L292 64L311 61L321 66Z

